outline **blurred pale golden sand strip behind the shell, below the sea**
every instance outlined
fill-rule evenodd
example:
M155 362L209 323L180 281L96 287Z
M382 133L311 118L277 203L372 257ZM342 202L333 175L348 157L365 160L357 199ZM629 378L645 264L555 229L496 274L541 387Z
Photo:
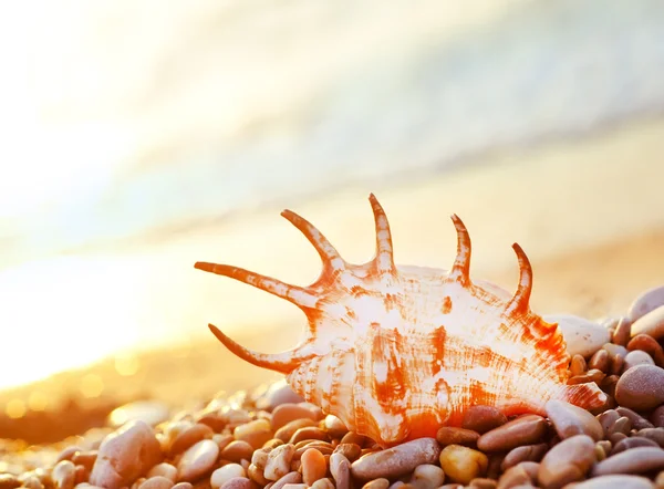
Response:
M366 197L375 191L392 225L397 263L439 268L449 268L454 259L448 216L456 212L473 239L473 277L515 290L518 268L510 246L518 241L533 266L533 311L599 320L624 314L636 295L662 284L662 154L664 123L645 122L509 158L497 156L490 164L478 162L435 178L350 188L294 210L347 260L362 262L373 254ZM313 281L318 256L278 209L178 235L166 249L146 243L141 253L149 250L154 264L142 271L153 287L138 300L143 315L154 313L158 320L136 334L149 341L159 326L163 342L6 389L0 403L20 399L28 408L31 396L41 393L39 398L50 399L46 410L70 397L83 406L106 403L108 409L136 398L160 399L175 408L280 378L232 356L206 325L218 325L248 347L277 352L298 342L304 316L286 301L193 269L197 260L219 261L292 283ZM113 330L94 330L94 323L90 327L91 336L113 335Z

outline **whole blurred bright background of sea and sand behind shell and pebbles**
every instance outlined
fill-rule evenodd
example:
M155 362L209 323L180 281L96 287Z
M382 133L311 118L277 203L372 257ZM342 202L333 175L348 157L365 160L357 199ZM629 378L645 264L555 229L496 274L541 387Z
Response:
M542 313L663 281L660 0L25 0L0 50L0 437L273 378L206 325L279 351L303 315L193 264L313 281L286 207L362 262L373 191L438 268L456 212L474 275L511 290L523 246Z

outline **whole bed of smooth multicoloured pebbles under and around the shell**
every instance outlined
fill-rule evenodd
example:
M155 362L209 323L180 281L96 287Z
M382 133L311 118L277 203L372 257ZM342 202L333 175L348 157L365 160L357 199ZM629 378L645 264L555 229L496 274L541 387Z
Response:
M568 384L606 404L561 400L546 416L473 406L461 426L383 449L284 382L172 412L143 400L61 443L4 441L0 487L14 489L507 489L664 487L664 287L602 322L546 316L571 355Z

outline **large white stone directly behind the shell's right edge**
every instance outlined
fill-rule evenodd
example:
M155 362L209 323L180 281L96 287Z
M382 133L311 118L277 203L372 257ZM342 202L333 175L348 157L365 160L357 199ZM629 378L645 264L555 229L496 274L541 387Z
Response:
M593 321L572 314L552 314L543 316L548 323L558 323L568 353L581 355L585 358L592 356L604 343L611 341L611 333Z

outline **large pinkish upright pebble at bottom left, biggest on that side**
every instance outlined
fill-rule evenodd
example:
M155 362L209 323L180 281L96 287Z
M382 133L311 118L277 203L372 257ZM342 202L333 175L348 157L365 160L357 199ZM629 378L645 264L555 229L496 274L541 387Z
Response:
M100 445L90 483L106 489L131 486L162 459L162 446L153 429L145 422L129 422Z

